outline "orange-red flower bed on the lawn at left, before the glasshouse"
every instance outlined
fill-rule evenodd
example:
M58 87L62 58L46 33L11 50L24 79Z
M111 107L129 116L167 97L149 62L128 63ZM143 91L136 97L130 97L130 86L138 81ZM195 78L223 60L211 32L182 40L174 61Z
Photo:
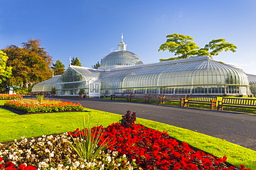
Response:
M4 103L5 106L26 111L35 112L51 112L51 111L83 111L84 107L80 103L62 102L56 100L44 100L42 103L37 100L10 100Z

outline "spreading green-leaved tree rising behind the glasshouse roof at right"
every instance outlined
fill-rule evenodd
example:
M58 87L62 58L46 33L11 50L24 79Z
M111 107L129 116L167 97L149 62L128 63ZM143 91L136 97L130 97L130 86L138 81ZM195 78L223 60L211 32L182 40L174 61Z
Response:
M175 59L185 59L193 56L205 56L210 57L219 55L220 52L228 50L235 52L237 48L232 43L226 43L225 39L213 39L205 47L200 48L196 43L192 42L194 39L191 36L185 36L183 34L170 34L166 36L167 41L159 47L159 51L169 50L174 52L175 58L160 59L160 61L169 61ZM199 50L198 50L199 49Z

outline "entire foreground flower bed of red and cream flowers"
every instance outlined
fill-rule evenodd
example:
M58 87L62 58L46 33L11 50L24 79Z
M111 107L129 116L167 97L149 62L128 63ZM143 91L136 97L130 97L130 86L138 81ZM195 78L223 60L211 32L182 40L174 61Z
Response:
M0 143L0 169L240 169L227 167L226 156L215 158L203 151L194 151L188 143L170 138L167 132L135 124L136 113L127 111L120 123L108 127L76 129L57 136L42 136L30 141L22 137L10 145ZM85 134L99 136L99 146L108 140L105 149L87 162L75 147L93 141ZM72 138L71 138L72 136ZM80 139L82 138L82 139ZM76 145L76 146L74 146ZM85 145L84 145L85 146Z

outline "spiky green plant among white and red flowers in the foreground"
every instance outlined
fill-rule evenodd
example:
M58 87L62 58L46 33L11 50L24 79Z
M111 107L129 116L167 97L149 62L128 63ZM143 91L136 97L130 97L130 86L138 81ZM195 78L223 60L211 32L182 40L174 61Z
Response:
M102 134L99 132L96 134L96 132L91 131L91 123L89 122L89 117L87 120L87 126L85 125L84 120L84 133L80 135L80 138L73 138L73 142L69 142L71 147L74 149L74 151L80 156L80 158L84 158L87 161L93 160L95 156L98 156L104 149L107 149L109 147L109 140L106 138L100 145L100 137ZM99 131L102 131L100 128Z

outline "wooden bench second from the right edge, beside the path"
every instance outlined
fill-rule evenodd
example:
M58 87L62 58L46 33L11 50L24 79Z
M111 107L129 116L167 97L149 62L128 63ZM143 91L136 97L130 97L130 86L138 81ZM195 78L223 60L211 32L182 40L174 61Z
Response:
M184 107L190 107L190 104L209 105L210 109L217 109L217 97L188 96L188 98L184 100Z

